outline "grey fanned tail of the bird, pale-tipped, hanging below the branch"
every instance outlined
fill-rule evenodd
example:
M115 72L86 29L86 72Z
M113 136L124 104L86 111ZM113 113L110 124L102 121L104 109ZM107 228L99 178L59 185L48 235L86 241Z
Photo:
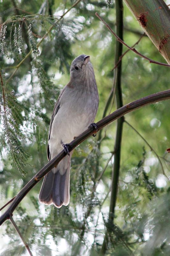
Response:
M45 175L39 195L41 203L54 204L57 208L70 202L70 161L67 169L61 172L59 166L63 166L62 161Z

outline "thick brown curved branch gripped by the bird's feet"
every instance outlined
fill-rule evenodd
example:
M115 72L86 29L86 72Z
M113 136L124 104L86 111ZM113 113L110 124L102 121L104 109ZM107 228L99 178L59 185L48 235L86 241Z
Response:
M132 101L129 104L124 105L122 108L115 110L110 115L104 117L99 122L97 122L98 130L100 131L107 124L112 123L116 119L124 116L125 114L137 109L144 107L145 105L149 105L155 102L159 102L162 100L170 99L170 90L157 92L151 95L148 95L144 98ZM81 142L86 140L94 133L93 128L88 128L85 132L81 133L76 139L72 140L68 146L69 152L76 148ZM56 155L48 164L46 164L27 184L18 195L14 198L13 202L10 204L8 209L4 212L4 214L0 217L0 225L4 223L5 220L9 219L12 212L18 206L18 204L22 201L22 199L26 196L26 194L46 175L56 164L58 164L63 157L66 156L64 150L62 150L58 155Z

